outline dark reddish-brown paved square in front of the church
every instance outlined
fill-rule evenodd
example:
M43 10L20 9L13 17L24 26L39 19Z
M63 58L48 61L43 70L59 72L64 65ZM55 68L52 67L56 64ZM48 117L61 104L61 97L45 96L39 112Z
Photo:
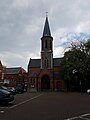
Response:
M90 96L67 92L24 93L16 95L12 106L0 110L4 111L0 120L90 120Z

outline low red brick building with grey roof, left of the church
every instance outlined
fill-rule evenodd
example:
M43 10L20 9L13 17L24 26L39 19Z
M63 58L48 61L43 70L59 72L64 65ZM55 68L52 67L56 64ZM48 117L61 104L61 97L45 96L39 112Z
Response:
M16 86L18 83L24 83L24 74L26 71L22 67L6 68L4 75L4 84Z

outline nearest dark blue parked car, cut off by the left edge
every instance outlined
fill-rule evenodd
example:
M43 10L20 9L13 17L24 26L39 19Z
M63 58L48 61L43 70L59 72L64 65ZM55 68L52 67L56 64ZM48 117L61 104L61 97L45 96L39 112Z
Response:
M0 89L0 104L7 104L14 100L14 96L7 90Z

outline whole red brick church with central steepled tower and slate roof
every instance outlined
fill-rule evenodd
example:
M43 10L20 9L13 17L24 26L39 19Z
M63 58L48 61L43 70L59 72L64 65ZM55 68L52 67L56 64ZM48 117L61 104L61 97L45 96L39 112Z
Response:
M37 91L62 91L64 81L60 77L60 58L53 58L53 37L48 16L41 37L41 59L31 59L28 64L28 84Z

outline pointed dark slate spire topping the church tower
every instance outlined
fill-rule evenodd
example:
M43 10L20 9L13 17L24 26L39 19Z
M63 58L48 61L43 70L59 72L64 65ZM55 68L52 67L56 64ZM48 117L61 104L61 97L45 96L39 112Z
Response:
M46 16L45 20L45 25L44 25L44 30L43 30L43 36L50 36L51 37L51 32L50 32L50 27L49 27L49 22L48 22L48 17Z

